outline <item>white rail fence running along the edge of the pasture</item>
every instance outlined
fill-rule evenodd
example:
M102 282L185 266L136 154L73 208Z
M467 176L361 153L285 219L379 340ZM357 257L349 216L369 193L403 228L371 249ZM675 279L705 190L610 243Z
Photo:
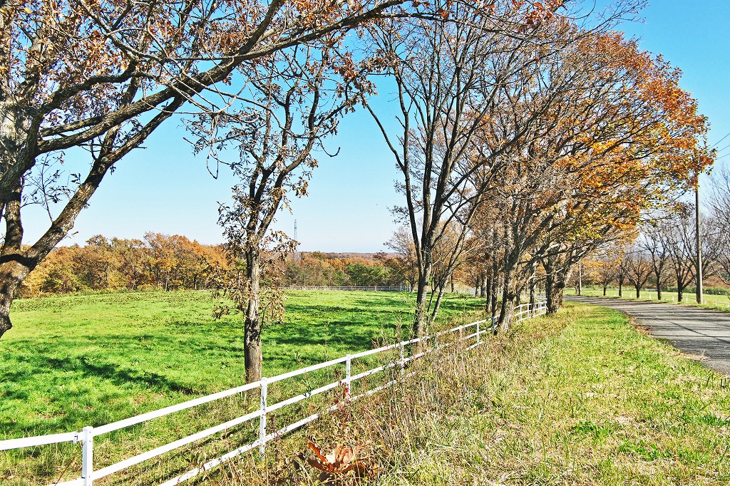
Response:
M537 317L539 315L545 315L545 312L547 311L545 302L539 302L535 304L532 308L530 308L529 304L523 304L520 306L515 307L515 321L519 322L521 320L529 319L530 317ZM300 401L303 401L306 398L310 398L312 396L318 395L320 393L324 393L328 390L333 390L337 387L345 387L345 393L350 395L352 390L353 382L356 382L359 379L363 379L365 377L369 377L373 374L384 372L389 369L399 368L399 374L401 376L404 376L405 369L407 363L409 363L412 360L416 360L418 358L421 358L423 355L426 354L426 352L431 352L433 350L439 349L439 346L437 345L437 338L440 336L447 336L449 334L455 334L458 333L458 339L460 342L464 342L465 344L469 341L473 341L472 344L469 344L466 346L466 350L470 350L473 347L477 347L479 344L481 344L481 336L484 333L492 333L493 332L493 326L496 322L496 317L491 320L490 325L486 327L482 327L484 323L489 322L490 320L480 320L475 323L471 324L465 324L460 325L456 328L451 328L448 331L443 331L441 333L434 334L432 336L424 336L423 338L419 339L410 339L408 341L402 341L396 344L391 344L389 346L383 346L379 347L374 350L364 351L364 352L358 352L353 355L347 355L343 356L342 358L337 358L334 360L329 360L324 363L319 363L312 366L307 366L306 368L289 371L288 373L277 375L276 377L272 378L261 378L258 382L248 383L247 385L242 385L240 387L231 388L231 390L222 391L219 393L213 393L212 395L204 396L201 398L195 398L194 400L185 401L182 404L167 406L164 409L155 410L153 412L147 412L145 414L137 415L136 417L131 417L125 420L119 420L118 422L110 423L107 425L101 425L101 427L84 427L80 432L74 431L74 432L66 432L66 433L55 433L47 436L34 436L34 437L26 437L23 439L9 439L0 441L0 450L11 450L11 449L20 449L23 447L36 447L36 446L42 446L46 444L60 444L64 442L72 442L72 443L81 443L82 447L82 466L81 466L81 477L77 479L73 479L72 481L66 481L66 482L59 482L55 483L56 485L64 485L64 486L91 486L93 481L96 479L101 479L103 477L110 476L111 474L115 474L118 471L122 471L123 469L126 469L128 467L134 466L136 464L142 463L145 460L150 460L153 458L158 457L159 455L164 454L165 452L169 452L175 449L178 449L180 447L183 447L187 444L191 444L194 441L198 441L200 439L204 439L208 436L212 436L215 433L220 433L222 431L226 431L227 429L233 428L237 425L241 425L243 423L246 423L250 420L255 420L258 418L258 439L251 442L250 444L242 445L241 447L238 447L235 450L231 450L231 452L228 452L226 455L222 455L218 458L212 459L204 463L203 465L193 468L190 471L186 472L185 474L180 474L177 477L174 477L172 479L169 479L166 482L161 483L161 486L172 486L180 484L180 482L184 482L188 479L191 479L192 477L197 476L201 472L209 471L212 468L215 468L216 466L220 465L221 463L226 462L227 460L231 460L232 458L237 457L238 455L241 455L245 452L248 452L250 450L255 449L258 447L259 452L261 454L264 453L266 442L271 441L272 439L276 439L277 437L283 436L285 433L289 433L291 431L296 430L297 428L300 428L303 425L306 425L307 423L310 423L314 420L317 420L320 417L320 414L312 414L309 417L306 417L302 420L299 420L295 423L291 423L289 425L286 425L284 428L281 428L277 431L274 431L272 433L269 433L266 430L266 414L274 412L275 410L283 409L285 406L296 404ZM466 335L465 335L466 334ZM418 342L433 342L433 347L431 349L422 351L419 354L412 355L412 356L406 356L405 348L406 347L412 347L413 344L416 344ZM445 344L447 345L447 344ZM445 346L442 345L441 347ZM422 349L424 347L422 346ZM376 368L369 369L367 371L364 371L359 374L351 374L352 371L352 363L354 360L358 360L360 358L365 358L366 356L372 356L377 355L383 352L395 352L398 351L399 358L395 361L386 363L383 366L377 366ZM309 390L305 393L301 393L296 396L292 396L291 398L287 398L283 401L279 401L276 404L269 404L267 401L268 398L268 387L272 383L275 382L282 382L285 379L290 379L293 377L298 377L302 374L307 374L312 371L317 371L320 369L325 369L330 366L336 366L338 364L345 363L345 378L338 380L337 382L331 382L327 385L323 385L317 388L314 388L312 390ZM356 400L358 398L361 398L363 396L370 395L372 393L376 393L377 391L383 390L386 387L389 387L393 385L396 382L396 379L392 379L389 382L386 382L383 385L377 386L372 388L372 390L365 390L364 392L360 393L357 396L351 396L350 400ZM234 396L237 393L242 393L247 390L255 390L256 388L260 389L260 405L258 407L258 410L255 410L254 412L250 412L247 414L244 414L240 417L234 418L233 420L228 420L225 423L220 423L219 425L215 425L211 428L207 428L204 431L199 431L197 433L193 433L190 436L184 437L183 439L178 439L176 441L170 442L169 444L165 444L160 447L156 447L155 449L148 450L147 452L142 452L142 454L135 455L131 458L127 458L125 460L121 460L118 463L114 463L110 466L105 466L101 469L94 470L93 468L93 439L95 437L104 435L106 433L110 433L112 431L118 431L122 428L130 427L131 425L137 425L140 423L147 422L148 420L153 420L159 417L164 417L166 415L172 414L174 412L180 412L182 410L191 409L194 406L199 406L201 404L207 404L215 400L219 400L220 398L225 398L228 396ZM331 412L332 410L336 409L337 405L330 407L329 409L326 409L325 412Z

